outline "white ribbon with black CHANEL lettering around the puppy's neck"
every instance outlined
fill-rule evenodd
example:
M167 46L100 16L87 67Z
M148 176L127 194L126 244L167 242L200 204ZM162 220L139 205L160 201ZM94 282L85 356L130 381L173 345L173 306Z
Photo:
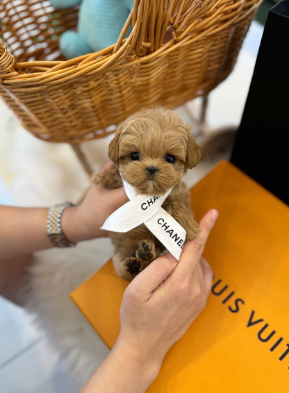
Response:
M161 207L172 189L165 195L148 196L137 194L134 187L125 181L123 183L130 201L115 210L101 229L124 233L144 223L174 258L179 260L185 242L185 229Z

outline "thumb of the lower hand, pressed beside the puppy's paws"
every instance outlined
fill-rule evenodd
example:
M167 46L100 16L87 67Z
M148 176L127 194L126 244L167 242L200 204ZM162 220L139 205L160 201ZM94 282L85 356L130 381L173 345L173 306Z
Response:
M148 300L151 293L172 274L177 264L178 261L170 253L160 256L133 278L129 285L135 286L139 294Z

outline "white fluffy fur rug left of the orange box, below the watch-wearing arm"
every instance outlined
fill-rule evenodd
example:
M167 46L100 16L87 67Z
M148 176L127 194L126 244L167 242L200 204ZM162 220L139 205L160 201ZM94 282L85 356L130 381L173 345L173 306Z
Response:
M69 294L99 269L111 252L109 240L41 251L35 253L29 272L26 308L65 361L69 374L81 385L109 350Z

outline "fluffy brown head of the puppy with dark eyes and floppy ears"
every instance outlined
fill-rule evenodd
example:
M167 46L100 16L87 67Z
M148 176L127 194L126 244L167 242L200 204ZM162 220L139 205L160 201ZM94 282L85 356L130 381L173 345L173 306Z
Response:
M172 110L129 117L110 142L110 159L140 194L165 194L201 158L199 146Z

